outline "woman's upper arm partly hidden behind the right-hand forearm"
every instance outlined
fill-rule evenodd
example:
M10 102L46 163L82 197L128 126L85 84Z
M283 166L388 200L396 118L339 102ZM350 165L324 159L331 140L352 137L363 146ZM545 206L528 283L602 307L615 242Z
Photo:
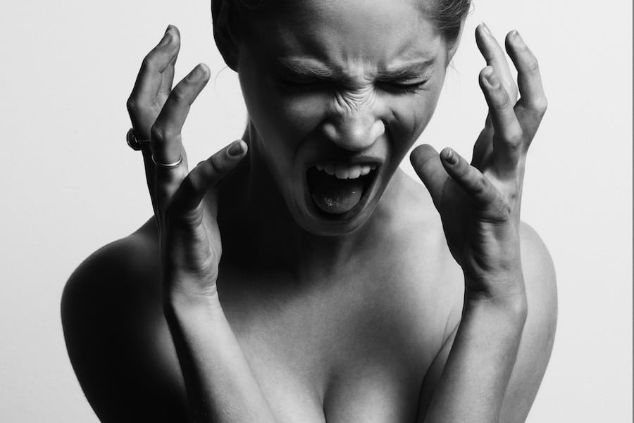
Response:
M557 284L552 260L540 236L528 225L521 225L521 254L528 315L518 355L506 388L500 422L526 420L546 371L557 326ZM426 412L433 389L442 377L460 322L460 313L452 313L453 331L433 360L421 395L420 413Z

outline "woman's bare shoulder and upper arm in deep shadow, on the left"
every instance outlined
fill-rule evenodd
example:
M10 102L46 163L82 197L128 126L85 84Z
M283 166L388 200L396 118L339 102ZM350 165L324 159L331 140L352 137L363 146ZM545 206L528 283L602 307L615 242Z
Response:
M63 291L68 355L102 422L184 421L178 362L161 327L156 244L156 229L144 225L90 255Z

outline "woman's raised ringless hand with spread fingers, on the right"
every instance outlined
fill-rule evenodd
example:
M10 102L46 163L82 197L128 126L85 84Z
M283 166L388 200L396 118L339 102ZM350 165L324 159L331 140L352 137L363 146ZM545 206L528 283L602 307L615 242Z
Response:
M546 97L535 56L516 31L506 36L506 51L518 71L517 85L504 51L485 25L478 26L475 39L487 61L479 80L489 113L471 165L452 149L439 155L429 145L418 146L410 158L463 269L466 298L523 301L522 184L526 152L545 113Z

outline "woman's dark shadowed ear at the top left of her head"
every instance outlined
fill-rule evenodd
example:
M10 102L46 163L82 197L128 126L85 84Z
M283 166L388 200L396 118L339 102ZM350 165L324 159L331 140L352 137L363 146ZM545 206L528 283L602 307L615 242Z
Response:
M237 19L232 0L211 0L213 39L225 63L237 72L238 43L235 37Z

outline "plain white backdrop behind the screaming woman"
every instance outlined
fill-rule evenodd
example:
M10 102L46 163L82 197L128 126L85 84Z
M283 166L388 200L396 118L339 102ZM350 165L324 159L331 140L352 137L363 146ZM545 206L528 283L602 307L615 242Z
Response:
M388 1L388 0L386 0ZM0 421L97 422L64 346L66 279L151 213L125 100L168 23L177 77L212 80L184 130L196 163L240 137L234 72L209 1L12 1L0 14ZM471 157L485 118L473 39L518 29L540 59L549 110L531 146L523 219L559 282L552 360L528 422L632 421L632 2L475 0L420 141ZM372 28L368 28L371 31ZM411 175L409 161L402 164Z

